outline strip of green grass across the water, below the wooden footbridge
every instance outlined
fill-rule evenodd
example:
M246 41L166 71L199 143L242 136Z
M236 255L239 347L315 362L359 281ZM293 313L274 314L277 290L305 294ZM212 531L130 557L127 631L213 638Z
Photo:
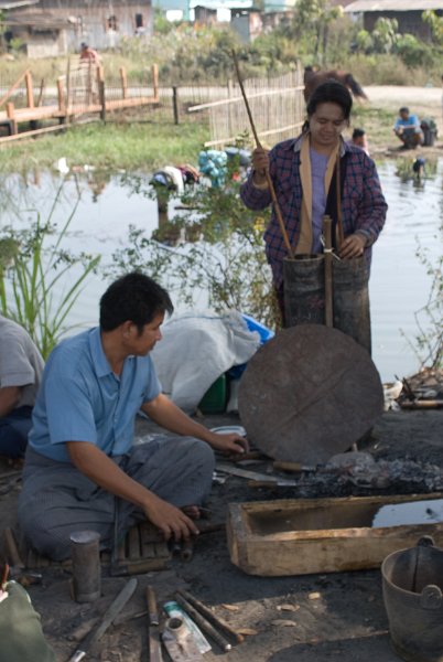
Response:
M99 169L141 170L181 162L196 163L208 139L204 124L94 122L65 132L3 143L0 172L24 172L36 166L48 168L65 157L68 164L85 163Z

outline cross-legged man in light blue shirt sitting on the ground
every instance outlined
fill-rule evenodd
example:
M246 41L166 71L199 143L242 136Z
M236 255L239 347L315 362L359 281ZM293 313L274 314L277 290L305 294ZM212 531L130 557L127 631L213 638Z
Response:
M213 449L238 456L248 448L236 434L212 433L161 393L149 354L172 310L160 285L128 274L101 297L99 327L51 353L19 499L19 524L41 554L67 558L69 535L85 528L112 548L116 530L120 543L143 520L166 540L197 534L193 519L210 490ZM139 409L175 436L133 446Z

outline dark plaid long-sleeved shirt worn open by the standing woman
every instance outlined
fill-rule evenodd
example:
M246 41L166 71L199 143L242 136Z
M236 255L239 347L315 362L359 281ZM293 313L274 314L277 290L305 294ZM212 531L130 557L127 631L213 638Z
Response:
M291 246L300 235L302 184L300 180L301 137L275 145L269 152L269 171ZM385 224L388 205L381 192L376 166L360 148L342 143L342 156L348 152L343 188L342 215L344 235L359 233L367 239L365 257L370 265L371 246ZM241 185L241 200L250 210L262 210L271 203L268 189L256 189L252 172ZM264 232L266 254L275 287L283 280L283 258L288 255L275 211Z

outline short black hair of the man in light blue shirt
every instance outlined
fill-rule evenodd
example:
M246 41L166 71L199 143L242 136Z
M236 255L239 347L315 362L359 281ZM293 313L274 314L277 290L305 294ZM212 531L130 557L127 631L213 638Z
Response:
M127 321L133 322L139 333L144 324L162 312L174 310L169 293L155 280L132 271L112 282L100 299L100 330L114 331Z

